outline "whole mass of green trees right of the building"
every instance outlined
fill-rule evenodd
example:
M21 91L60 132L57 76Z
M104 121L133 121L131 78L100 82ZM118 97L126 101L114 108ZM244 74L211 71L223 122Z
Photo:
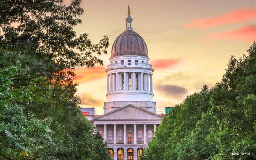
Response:
M255 46L231 56L221 83L170 110L142 159L255 159Z

